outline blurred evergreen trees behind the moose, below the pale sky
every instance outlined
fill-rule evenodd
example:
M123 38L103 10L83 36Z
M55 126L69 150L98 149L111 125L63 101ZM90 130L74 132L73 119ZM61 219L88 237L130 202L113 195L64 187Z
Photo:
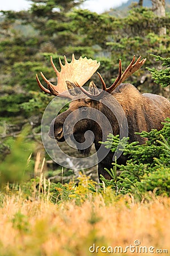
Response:
M59 68L63 60L80 55L97 59L99 72L109 86L118 72L118 59L125 69L131 57L147 57L145 67L158 67L150 54L167 57L170 51L170 13L158 15L141 5L130 6L127 15L108 11L103 14L80 9L86 0L32 0L26 11L1 11L0 16L0 151L9 151L12 138L26 123L32 131L29 138L40 141L42 113L52 97L40 92L35 74L43 73L54 83L56 77L49 56ZM165 32L161 33L162 28ZM160 93L145 67L129 78L141 92ZM99 79L93 80L100 87ZM43 82L42 82L43 83Z

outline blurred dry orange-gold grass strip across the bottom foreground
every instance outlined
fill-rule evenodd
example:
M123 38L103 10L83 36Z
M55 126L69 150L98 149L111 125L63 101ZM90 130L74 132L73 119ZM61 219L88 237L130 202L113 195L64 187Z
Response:
M48 200L22 200L6 197L0 208L0 255L111 255L90 253L89 247L141 246L168 249L170 254L169 198L150 203L134 203L130 197L112 200L110 191L76 205L54 205ZM111 200L110 200L111 201ZM139 246L136 246L139 247ZM114 255L153 255L124 253Z

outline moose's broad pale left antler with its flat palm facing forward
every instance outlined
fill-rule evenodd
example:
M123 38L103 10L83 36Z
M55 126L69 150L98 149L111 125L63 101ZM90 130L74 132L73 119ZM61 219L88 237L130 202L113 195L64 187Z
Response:
M38 75L36 75L37 83L45 93L59 96L60 93L67 90L66 81L76 82L79 86L83 86L91 76L94 75L97 68L100 66L100 62L97 63L97 60L87 59L87 57L82 58L82 56L80 56L80 58L76 60L74 54L72 55L70 63L67 62L66 56L64 56L64 58L65 65L62 64L61 59L59 58L59 64L61 67L61 71L59 72L53 63L52 56L50 56L50 62L58 79L57 85L53 85L41 72L42 79L44 79L46 84L48 84L48 89L46 89L41 84ZM64 94L61 94L61 97L65 97Z

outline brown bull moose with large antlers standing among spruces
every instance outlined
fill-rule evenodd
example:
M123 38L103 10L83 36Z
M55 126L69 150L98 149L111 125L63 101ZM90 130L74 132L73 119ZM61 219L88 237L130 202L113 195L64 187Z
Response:
M113 109L117 109L118 105L121 106L125 113L126 120L128 121L129 142L138 141L140 144L145 143L145 140L135 132L151 131L151 129L160 130L163 127L162 122L164 119L170 117L170 102L166 98L151 93L141 94L133 85L122 83L145 63L146 59L141 60L141 56L135 61L134 55L131 63L123 73L120 59L118 76L108 88L100 73L97 72L103 88L102 90L97 89L94 82L91 81L88 91L82 86L92 77L92 75L94 75L99 68L100 62L87 59L87 57L83 58L82 56L77 60L73 54L71 62L68 63L66 56L64 57L65 65L63 65L61 59L59 59L59 64L61 66L60 72L54 65L52 56L50 57L52 67L57 75L57 85L53 85L41 72L42 79L48 84L48 89L46 89L36 75L37 83L45 93L70 98L71 100L69 109L59 114L50 125L49 137L56 139L56 141L63 142L65 141L66 136L69 136L72 139L74 138L76 143L83 143L85 140L84 134L86 131L90 130L94 134L96 152L99 152L99 148L101 147L103 148L103 151L100 150L100 154L101 152L104 152L105 147L99 142L107 139L109 133L107 124L104 123L103 135L100 125L91 119L88 114L84 114L87 113L89 108L99 110L99 112L103 113L111 123L113 134L119 134L120 124L117 121L117 117L114 114L114 111L111 111L111 109L103 104L103 99L105 99ZM76 95L79 93L82 93L83 96L82 98L77 99ZM108 97L108 95L110 97ZM76 115L82 115L84 118L80 118L75 124L73 134L69 133L69 129L66 129L65 133L63 133L63 124L66 118L74 112ZM100 116L99 119L101 119ZM100 121L102 122L102 120ZM123 119L122 122L124 122ZM90 149L91 146L88 146L79 151L84 155L88 155ZM97 156L100 158L99 155ZM126 160L126 157L121 155L120 158L117 159L117 163L124 164ZM111 179L111 176L109 176L104 168L111 169L112 162L113 153L109 151L105 158L98 163L99 178L100 174L102 174L105 178Z

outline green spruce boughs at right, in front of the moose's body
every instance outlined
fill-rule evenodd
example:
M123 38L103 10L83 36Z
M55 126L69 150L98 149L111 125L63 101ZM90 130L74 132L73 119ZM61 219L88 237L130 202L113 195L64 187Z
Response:
M169 196L170 118L166 119L162 130L151 130L149 133L143 131L140 135L147 138L146 144L126 143L123 152L129 158L126 165L113 163L111 170L105 169L112 179L101 177L101 180L106 187L113 188L117 195L130 192L142 198L144 192L155 191L156 195ZM119 142L118 136L110 134L104 144L115 152ZM120 176L117 176L117 170L121 171Z

